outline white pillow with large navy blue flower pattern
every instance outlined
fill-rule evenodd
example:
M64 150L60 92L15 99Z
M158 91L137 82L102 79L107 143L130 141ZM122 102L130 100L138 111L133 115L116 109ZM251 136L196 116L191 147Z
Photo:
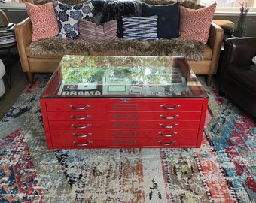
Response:
M93 4L90 1L67 5L53 1L54 10L59 26L58 38L78 38L78 20L86 19L93 21Z

